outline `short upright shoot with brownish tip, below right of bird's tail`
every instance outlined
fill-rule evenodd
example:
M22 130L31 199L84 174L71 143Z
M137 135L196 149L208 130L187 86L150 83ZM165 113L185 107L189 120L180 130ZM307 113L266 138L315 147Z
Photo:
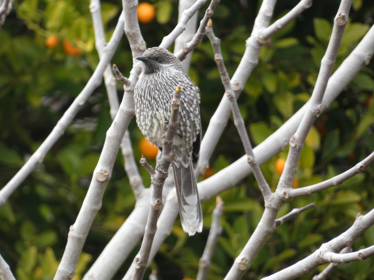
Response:
M223 208L223 201L220 197L217 197L217 205L212 213L211 229L209 230L209 236L208 240L206 240L203 255L199 261L199 271L197 271L196 280L205 280L208 275L209 265L211 263L215 246L217 245L217 239L222 233L221 218L223 215Z

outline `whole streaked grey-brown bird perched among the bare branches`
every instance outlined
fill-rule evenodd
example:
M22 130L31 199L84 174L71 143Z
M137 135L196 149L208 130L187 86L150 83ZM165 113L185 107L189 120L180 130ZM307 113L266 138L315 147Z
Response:
M161 151L161 136L171 114L173 93L178 84L182 85L179 124L172 142L172 169L182 227L193 235L203 227L194 173L201 141L199 88L184 73L180 60L166 49L153 47L136 59L143 62L134 90L137 124L144 137Z

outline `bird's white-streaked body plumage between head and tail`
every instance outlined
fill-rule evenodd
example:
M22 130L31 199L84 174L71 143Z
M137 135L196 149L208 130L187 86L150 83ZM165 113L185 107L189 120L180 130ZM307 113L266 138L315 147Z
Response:
M184 77L183 77L184 78ZM166 132L165 122L171 114L171 100L174 88L182 83L180 122L173 139L174 162L187 166L191 159L192 144L200 130L199 102L197 88L191 81L177 81L175 78L156 79L151 75L141 75L135 85L135 117L144 137L162 147L162 134ZM141 82L141 83L140 83ZM192 84L192 85L191 85ZM188 96L189 93L196 96Z

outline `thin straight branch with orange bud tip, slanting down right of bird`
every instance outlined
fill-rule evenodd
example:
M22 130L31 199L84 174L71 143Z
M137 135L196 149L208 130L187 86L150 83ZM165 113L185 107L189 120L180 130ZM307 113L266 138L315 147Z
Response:
M269 201L269 199L271 199L272 192L255 159L255 155L252 150L252 145L251 145L251 142L249 141L248 133L245 129L244 120L242 118L242 115L240 114L239 106L237 105L234 92L231 88L230 77L229 77L229 74L227 73L225 64L223 62L221 47L220 47L221 45L220 40L217 37L215 37L212 28L208 28L208 27L206 28L206 35L208 36L209 40L212 43L212 47L214 51L214 61L217 63L218 71L220 72L220 75L221 75L221 81L226 90L226 96L230 100L230 107L231 107L231 111L233 112L233 116L234 116L234 124L239 133L240 139L242 140L244 150L248 158L248 164L251 166L251 169L256 178L258 186L260 187L264 200L265 202L267 202Z

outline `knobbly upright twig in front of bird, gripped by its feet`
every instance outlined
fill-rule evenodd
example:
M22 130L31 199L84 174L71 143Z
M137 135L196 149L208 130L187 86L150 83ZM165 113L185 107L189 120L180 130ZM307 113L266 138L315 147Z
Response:
M161 161L158 163L158 167L162 171L157 171L156 175L151 176L153 185L153 194L151 198L151 208L149 209L149 215L147 225L145 226L145 233L143 242L140 247L138 255L134 259L135 271L132 275L132 280L143 279L145 268L149 254L152 247L153 237L157 230L157 219L159 212L162 208L162 188L166 177L168 177L169 165L173 160L172 142L174 137L174 131L179 124L178 111L180 108L180 96L181 87L179 84L174 91L173 100L171 102L171 115L169 118L168 129L166 130L165 136L163 137ZM152 173L151 173L152 175Z

